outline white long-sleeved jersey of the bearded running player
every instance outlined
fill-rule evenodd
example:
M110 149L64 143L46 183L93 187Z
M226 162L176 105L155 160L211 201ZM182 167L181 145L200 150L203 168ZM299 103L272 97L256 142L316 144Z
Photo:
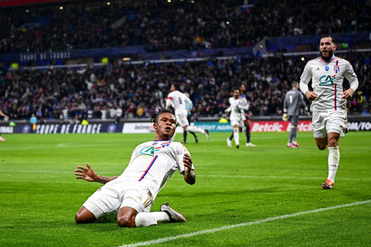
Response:
M357 79L351 64L345 59L334 57L326 62L317 57L308 61L300 82L308 84L312 79L313 92L318 94L312 102L312 111L345 110L347 100L341 98L344 77L349 82Z

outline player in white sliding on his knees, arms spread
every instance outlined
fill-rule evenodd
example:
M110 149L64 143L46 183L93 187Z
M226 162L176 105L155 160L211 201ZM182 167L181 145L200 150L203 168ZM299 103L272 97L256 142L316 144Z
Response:
M187 148L170 138L177 119L169 110L155 112L151 122L156 130L154 141L139 144L132 153L128 167L121 176L98 176L88 168L78 166L76 179L105 184L86 200L76 213L76 223L93 223L117 218L120 227L142 227L160 222L184 222L181 213L162 204L160 212L151 212L157 193L179 170L188 184L196 183L196 174ZM175 154L175 155L174 155Z

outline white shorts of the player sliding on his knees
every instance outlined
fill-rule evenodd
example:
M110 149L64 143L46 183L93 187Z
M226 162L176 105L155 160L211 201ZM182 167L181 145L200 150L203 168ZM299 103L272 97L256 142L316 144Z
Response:
M114 181L99 188L83 204L94 214L97 222L116 219L122 207L134 208L138 213L151 211L153 197L145 184L139 181L119 181L112 186L110 183ZM115 188L122 190L117 191Z

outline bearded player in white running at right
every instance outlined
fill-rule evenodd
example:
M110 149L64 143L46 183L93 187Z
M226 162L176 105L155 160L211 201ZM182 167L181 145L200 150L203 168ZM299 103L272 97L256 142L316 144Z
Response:
M351 64L334 56L336 41L331 35L322 36L319 43L321 56L308 61L300 77L300 90L312 100L311 111L313 135L319 150L328 146L328 177L322 184L332 189L339 166L339 137L344 137L347 128L347 99L351 99L358 87L358 79ZM350 88L343 92L343 79ZM312 79L313 91L308 90Z

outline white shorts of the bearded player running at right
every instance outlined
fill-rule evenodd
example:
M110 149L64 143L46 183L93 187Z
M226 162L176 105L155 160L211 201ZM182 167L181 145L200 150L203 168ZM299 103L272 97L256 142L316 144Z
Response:
M315 138L326 137L328 133L339 133L344 137L347 128L347 111L313 111L312 127Z

